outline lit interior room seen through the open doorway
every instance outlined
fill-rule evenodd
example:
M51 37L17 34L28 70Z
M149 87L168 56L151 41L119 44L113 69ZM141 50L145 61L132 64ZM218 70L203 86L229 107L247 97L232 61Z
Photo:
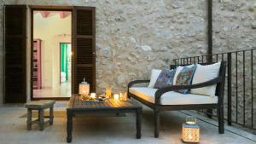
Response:
M33 98L70 97L72 14L33 11Z

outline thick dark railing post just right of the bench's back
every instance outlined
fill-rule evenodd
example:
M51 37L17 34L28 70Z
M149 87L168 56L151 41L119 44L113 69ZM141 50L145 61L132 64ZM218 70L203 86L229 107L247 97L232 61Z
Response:
M232 85L231 85L231 77L232 77L232 53L228 53L228 124L232 123Z

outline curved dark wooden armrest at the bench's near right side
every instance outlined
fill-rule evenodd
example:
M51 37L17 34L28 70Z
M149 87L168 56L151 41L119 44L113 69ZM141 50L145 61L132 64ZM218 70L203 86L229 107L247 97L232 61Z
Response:
M200 84L192 84L192 85L172 85L170 87L157 89L154 94L155 104L160 104L160 97L168 91L176 91L181 89L196 89L196 88L203 88L213 84L219 84L223 82L223 78L218 76L218 78L213 78L207 82L203 82Z

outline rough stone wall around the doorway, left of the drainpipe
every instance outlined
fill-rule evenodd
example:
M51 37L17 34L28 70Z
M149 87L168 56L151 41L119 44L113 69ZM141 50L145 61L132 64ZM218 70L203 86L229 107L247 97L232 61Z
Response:
M169 67L176 55L206 54L205 0L16 0L3 4L96 7L96 89L125 90L148 79L152 68ZM0 13L3 32L3 10ZM3 61L3 37L0 40ZM2 66L2 64L0 65ZM29 70L29 68L28 68ZM1 72L3 69L1 68ZM28 71L29 72L29 71ZM1 75L3 78L3 74ZM3 83L1 83L1 88ZM1 90L3 94L3 89Z

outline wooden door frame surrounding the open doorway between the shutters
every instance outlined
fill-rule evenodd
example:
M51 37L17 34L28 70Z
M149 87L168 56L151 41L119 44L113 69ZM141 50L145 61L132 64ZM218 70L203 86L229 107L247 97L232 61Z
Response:
M31 66L31 77L30 77L30 91L31 91L31 95L30 98L31 100L69 100L69 97L40 97L40 98L34 98L33 97L33 88L32 88L32 59L33 59L33 12L40 10L40 11L70 11L71 14L73 15L73 6L42 6L42 5L29 5L28 6L30 9L30 20L31 20L31 62L30 62L30 66ZM71 16L71 33L72 33L72 37L73 37L73 16ZM71 37L71 40L73 39ZM73 43L71 43L71 49L73 51ZM72 63L73 63L73 57L72 57ZM73 72L73 70L72 70ZM73 87L73 84L71 85Z

